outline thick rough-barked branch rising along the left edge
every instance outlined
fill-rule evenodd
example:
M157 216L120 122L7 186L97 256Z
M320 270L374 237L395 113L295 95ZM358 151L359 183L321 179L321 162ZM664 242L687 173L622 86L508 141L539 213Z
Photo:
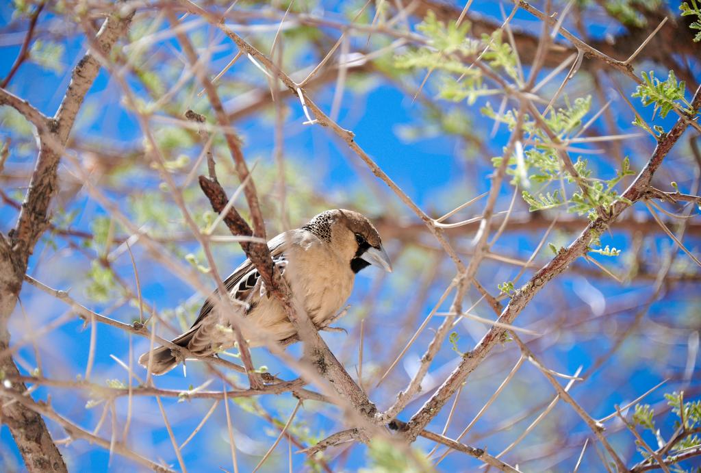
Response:
M76 64L66 94L53 118L45 120L27 102L6 90L1 91L0 104L15 107L39 128L40 150L17 224L8 235L0 233L0 352L4 352L10 343L8 320L22 288L29 256L49 225L48 209L58 188L57 169L62 148L68 141L83 100L100 71L101 58L126 32L131 18L132 15L125 18L113 15L102 24L95 38L100 50L88 50ZM0 371L6 376L20 376L10 356L0 359ZM53 443L39 411L26 409L22 402L17 402L18 396L23 396L25 390L24 383L13 383L11 390L4 391L15 401L4 404L2 420L10 427L29 472L66 472L61 453ZM30 401L27 399L27 402Z

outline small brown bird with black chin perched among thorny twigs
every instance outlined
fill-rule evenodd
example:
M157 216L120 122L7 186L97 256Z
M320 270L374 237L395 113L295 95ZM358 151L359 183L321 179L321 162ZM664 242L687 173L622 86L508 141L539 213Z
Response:
M290 285L292 294L303 303L306 313L319 326L339 312L353 289L358 271L369 265L392 271L380 235L370 221L353 210L321 212L301 228L280 233L268 242L273 262ZM265 290L262 278L250 259L246 259L224 281L229 296L245 304L232 304L233 310L250 323L241 327L252 347L264 344L261 332L276 341L295 334L282 304ZM172 342L197 355L211 355L231 348L236 335L231 330L234 318L215 308L215 291L200 309L191 329ZM167 373L179 360L170 348L159 347L139 357L146 367L151 360L154 374Z

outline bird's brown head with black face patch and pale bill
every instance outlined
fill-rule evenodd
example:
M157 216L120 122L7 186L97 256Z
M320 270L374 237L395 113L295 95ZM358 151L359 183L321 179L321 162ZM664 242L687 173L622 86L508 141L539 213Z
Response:
M329 242L341 258L348 260L353 273L371 264L392 271L380 234L363 214L345 209L326 210L302 228Z

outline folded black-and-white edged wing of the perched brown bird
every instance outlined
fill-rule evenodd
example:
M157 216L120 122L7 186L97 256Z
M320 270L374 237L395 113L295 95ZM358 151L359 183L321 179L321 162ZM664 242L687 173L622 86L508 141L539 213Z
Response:
M273 264L280 269L281 274L285 272L285 267L287 266L287 259L284 253L285 241L285 233L280 233L280 235L268 242L268 249L270 249L271 256L273 257ZM226 287L226 291L229 292L229 296L237 301L245 303L251 302L254 296L254 289L257 287L259 288L261 296L265 294L265 287L261 280L260 273L250 259L246 259L246 261L241 263L241 265L224 280L224 287ZM215 292L212 292L212 295L207 298L200 309L200 315L197 317L197 320L195 320L195 323L192 324L193 328L197 327L198 324L212 312L214 301L217 300L218 296L219 289L216 289Z

